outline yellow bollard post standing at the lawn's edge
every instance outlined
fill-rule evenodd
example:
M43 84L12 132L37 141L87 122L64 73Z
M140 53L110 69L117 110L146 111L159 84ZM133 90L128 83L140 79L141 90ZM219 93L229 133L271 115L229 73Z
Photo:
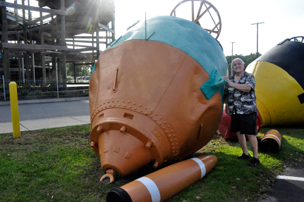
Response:
M10 100L11 100L11 112L13 123L13 135L14 138L20 137L20 123L19 123L19 109L18 109L18 95L16 82L10 83Z

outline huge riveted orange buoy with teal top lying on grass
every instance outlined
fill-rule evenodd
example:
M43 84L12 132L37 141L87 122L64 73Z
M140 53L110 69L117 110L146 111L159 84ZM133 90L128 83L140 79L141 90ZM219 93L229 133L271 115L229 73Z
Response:
M173 16L146 23L106 49L91 76L91 146L111 182L115 172L160 168L194 153L221 117L227 62L216 39Z

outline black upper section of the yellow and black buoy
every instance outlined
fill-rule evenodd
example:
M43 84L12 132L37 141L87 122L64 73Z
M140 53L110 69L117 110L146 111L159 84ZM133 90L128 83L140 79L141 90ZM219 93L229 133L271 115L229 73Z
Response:
M256 61L269 62L281 67L304 89L304 43L288 40L273 47Z

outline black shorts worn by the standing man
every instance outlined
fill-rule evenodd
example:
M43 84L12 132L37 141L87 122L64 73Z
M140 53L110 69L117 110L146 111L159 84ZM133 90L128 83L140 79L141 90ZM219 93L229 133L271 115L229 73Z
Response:
M241 134L257 135L256 119L257 112L248 114L232 114L230 132L236 133L240 131Z

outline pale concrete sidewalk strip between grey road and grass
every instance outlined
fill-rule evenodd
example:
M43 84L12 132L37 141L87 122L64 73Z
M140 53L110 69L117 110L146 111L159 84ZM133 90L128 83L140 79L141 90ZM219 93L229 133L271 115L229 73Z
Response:
M76 126L85 124L90 124L90 115L67 116L37 120L23 120L20 122L20 131L34 131L39 129L59 128L65 126ZM0 134L12 132L12 122L0 123Z

